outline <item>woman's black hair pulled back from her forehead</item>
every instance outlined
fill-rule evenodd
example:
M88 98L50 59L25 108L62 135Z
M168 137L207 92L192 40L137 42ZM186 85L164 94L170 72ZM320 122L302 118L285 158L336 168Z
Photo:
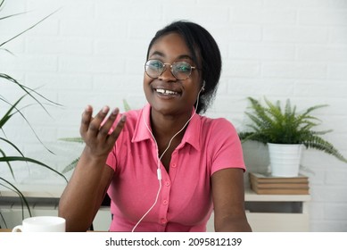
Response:
M157 31L151 40L147 50L147 60L149 51L155 41L169 33L178 33L184 37L188 46L193 62L198 65L202 72L202 81L205 83L204 90L200 94L197 113L206 112L216 96L221 72L221 56L219 46L209 31L199 24L191 21L174 21L168 26ZM200 60L199 60L200 59Z

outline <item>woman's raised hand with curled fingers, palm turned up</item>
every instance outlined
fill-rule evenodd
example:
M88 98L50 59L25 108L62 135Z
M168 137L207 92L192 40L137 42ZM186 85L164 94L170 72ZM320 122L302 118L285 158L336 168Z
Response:
M120 110L118 108L113 109L109 117L105 120L109 111L110 108L104 106L103 109L93 117L93 107L87 105L82 114L79 132L86 143L85 150L91 154L90 156L107 157L124 127L126 116L122 115L117 126L110 133L112 124L116 120Z

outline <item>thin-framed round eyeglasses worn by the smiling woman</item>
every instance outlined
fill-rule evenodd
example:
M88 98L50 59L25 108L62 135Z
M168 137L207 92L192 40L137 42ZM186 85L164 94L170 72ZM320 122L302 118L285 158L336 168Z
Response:
M157 79L166 70L169 65L172 75L179 80L188 79L196 68L186 62L162 63L159 60L148 60L145 63L145 73L153 79Z

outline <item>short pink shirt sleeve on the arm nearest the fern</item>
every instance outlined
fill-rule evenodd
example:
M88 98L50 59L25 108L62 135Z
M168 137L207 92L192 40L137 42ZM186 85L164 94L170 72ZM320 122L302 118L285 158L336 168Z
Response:
M211 151L211 175L227 168L240 168L246 171L240 138L235 127L226 119L218 119L214 123Z

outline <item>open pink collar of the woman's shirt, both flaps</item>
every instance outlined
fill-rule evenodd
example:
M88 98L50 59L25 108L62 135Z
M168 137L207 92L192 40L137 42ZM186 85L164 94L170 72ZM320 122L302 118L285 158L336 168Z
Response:
M194 112L195 110L193 110L192 115L194 114ZM136 128L134 132L134 137L132 138L132 142L139 142L146 139L153 140L150 113L151 105L146 104L139 114L139 119L137 119L136 121ZM189 121L189 124L186 128L185 136L182 138L182 142L178 146L178 148L183 147L186 143L188 143L191 146L194 146L196 150L200 151L201 127L202 117L199 114L195 113L192 120Z

